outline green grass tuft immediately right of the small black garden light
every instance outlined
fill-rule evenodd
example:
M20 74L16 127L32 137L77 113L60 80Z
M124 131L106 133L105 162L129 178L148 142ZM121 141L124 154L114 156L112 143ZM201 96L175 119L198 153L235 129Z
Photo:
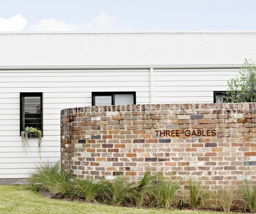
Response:
M199 209L205 205L205 202L211 196L211 191L207 190L201 181L190 180L190 200L192 209Z

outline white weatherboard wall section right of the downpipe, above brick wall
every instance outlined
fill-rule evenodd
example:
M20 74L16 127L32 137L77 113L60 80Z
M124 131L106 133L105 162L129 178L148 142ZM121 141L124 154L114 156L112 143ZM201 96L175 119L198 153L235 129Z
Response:
M213 91L226 91L234 68L154 69L154 103L213 102Z

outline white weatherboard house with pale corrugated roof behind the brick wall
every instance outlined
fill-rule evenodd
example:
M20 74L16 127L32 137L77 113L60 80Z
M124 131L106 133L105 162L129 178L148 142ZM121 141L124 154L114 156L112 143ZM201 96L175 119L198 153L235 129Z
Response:
M0 33L0 181L60 157L61 109L218 102L245 58L254 32ZM26 126L43 131L42 160Z

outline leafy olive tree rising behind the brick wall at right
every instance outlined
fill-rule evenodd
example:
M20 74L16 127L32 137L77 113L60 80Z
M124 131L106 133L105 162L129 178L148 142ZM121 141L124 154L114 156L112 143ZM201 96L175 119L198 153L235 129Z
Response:
M256 102L256 66L245 59L237 77L227 81L228 91L224 102Z

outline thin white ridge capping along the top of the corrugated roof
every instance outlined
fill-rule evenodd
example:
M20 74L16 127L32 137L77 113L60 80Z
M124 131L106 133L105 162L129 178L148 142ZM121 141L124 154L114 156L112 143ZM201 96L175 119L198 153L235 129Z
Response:
M251 34L256 31L124 31L124 32L83 32L83 31L3 31L0 34Z

